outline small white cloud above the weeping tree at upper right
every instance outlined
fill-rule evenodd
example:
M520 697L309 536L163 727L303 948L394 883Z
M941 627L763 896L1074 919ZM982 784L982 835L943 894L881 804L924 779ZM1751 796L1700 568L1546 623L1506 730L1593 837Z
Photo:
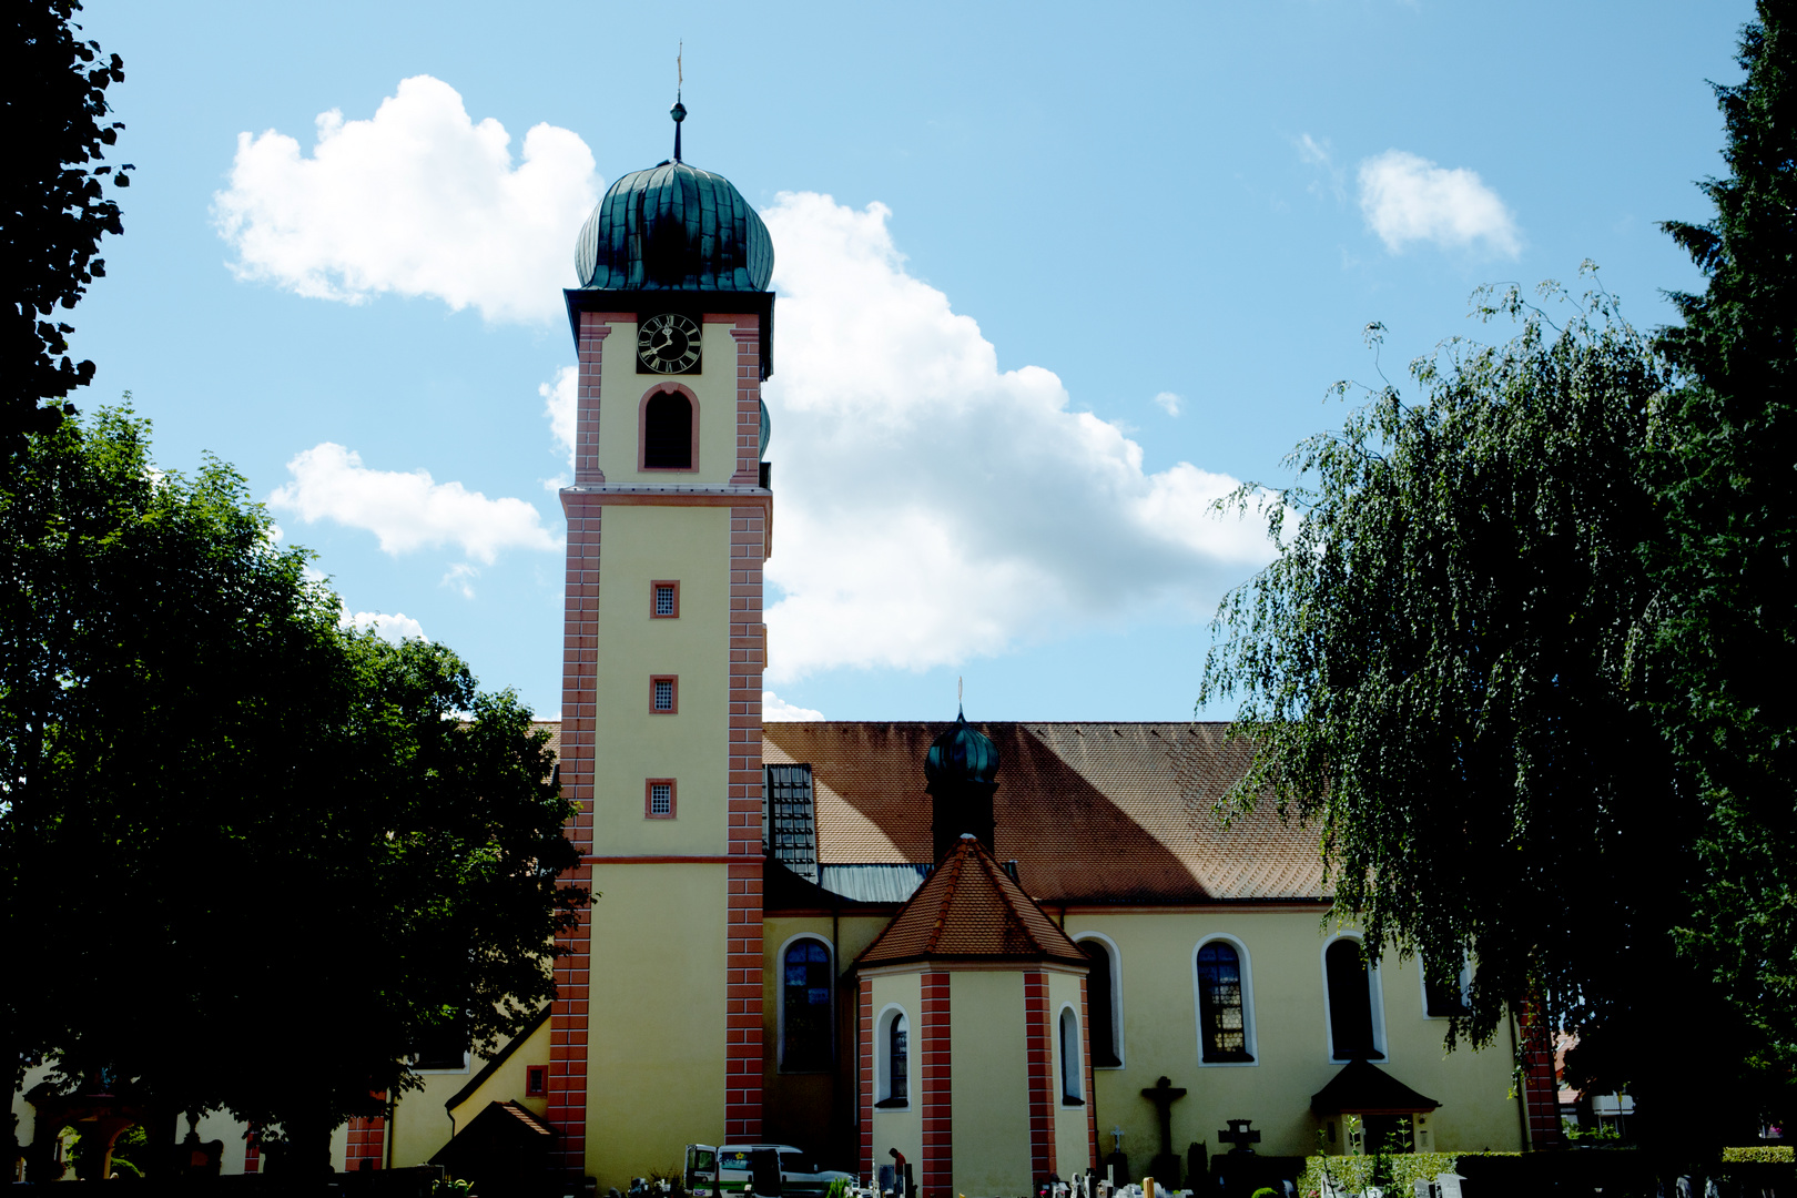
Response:
M1360 212L1393 253L1416 241L1450 250L1483 244L1506 257L1522 250L1509 208L1484 180L1402 149L1360 163Z

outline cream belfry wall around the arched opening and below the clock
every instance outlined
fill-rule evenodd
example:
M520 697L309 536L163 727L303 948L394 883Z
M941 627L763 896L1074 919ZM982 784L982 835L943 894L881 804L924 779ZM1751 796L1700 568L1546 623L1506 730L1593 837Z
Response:
M607 483L692 487L730 481L737 472L737 339L731 329L733 323L706 323L699 374L663 377L636 374L636 323L611 325L598 390L598 469ZM679 383L699 397L697 471L636 469L636 415L643 395L663 383Z

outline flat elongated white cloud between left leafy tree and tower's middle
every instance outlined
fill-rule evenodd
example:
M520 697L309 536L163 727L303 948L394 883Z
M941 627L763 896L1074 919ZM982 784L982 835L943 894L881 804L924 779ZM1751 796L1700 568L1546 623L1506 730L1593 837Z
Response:
M543 517L523 499L489 499L462 483L433 481L428 471L370 471L361 454L320 442L288 462L293 481L270 505L307 524L332 519L372 532L388 553L456 546L491 564L505 550L557 550Z

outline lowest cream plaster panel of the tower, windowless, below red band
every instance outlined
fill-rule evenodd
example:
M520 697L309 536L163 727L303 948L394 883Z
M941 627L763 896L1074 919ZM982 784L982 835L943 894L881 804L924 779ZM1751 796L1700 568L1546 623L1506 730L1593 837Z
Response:
M586 1167L598 1189L724 1133L728 866L593 866Z

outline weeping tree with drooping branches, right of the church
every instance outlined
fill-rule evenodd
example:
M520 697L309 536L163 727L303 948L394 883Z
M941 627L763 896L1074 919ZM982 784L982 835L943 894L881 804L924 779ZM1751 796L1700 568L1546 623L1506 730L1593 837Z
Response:
M1677 1126L1682 1087L1714 1106L1698 1078L1729 1027L1675 957L1700 812L1642 652L1666 372L1605 293L1545 291L1563 327L1488 296L1511 341L1448 341L1412 365L1420 402L1385 384L1299 445L1303 485L1269 501L1278 559L1226 598L1202 697L1242 697L1235 797L1317 821L1369 952L1420 952L1436 982L1477 963L1452 1036L1544 1004L1605 1088ZM1705 1051L1662 1051L1662 1020Z

